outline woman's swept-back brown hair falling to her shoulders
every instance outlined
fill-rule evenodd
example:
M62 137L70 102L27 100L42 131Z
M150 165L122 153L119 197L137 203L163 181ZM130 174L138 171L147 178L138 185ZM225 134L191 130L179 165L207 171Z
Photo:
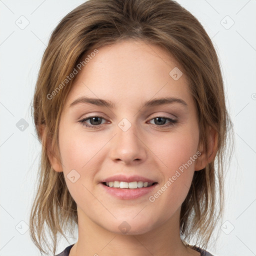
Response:
M233 132L217 54L204 28L190 12L172 0L88 0L62 18L52 32L34 91L33 118L42 151L29 231L40 252L46 253L44 246L50 248L46 227L53 241L54 254L58 232L65 237L63 231L72 231L77 224L76 203L67 189L63 172L54 171L47 156L47 143L51 143L50 153L60 161L58 124L73 79L51 99L48 95L87 52L125 39L156 44L178 60L196 103L199 142L206 152L207 127L217 131L214 156L217 162L213 160L194 172L181 206L183 243L188 246L190 239L196 238L196 244L205 247L216 222L221 219L223 164L224 159L231 157L231 151L226 152L227 134ZM42 136L43 126L45 136Z

